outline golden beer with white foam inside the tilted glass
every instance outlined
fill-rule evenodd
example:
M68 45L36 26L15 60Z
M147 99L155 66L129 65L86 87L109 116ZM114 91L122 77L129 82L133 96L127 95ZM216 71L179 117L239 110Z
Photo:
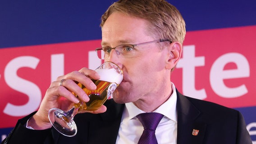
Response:
M123 76L115 72L114 69L96 69L96 72L101 76L100 80L92 80L97 86L96 90L88 90L84 85L78 83L90 98L87 103L80 100L79 103L74 105L78 108L78 111L82 109L94 111L100 108L123 80Z

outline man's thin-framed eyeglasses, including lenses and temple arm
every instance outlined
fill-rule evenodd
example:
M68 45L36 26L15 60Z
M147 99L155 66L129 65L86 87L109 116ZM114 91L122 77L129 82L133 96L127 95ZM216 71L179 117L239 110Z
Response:
M136 56L136 51L137 51L134 48L135 46L146 45L146 44L155 43L155 42L164 42L164 41L169 41L170 43L172 43L171 40L153 40L153 41L143 42L135 45L131 45L131 44L118 45L114 48L100 47L100 48L96 48L95 50L98 57L103 60L110 58L110 52L112 49L115 50L116 54L121 55L123 58L133 58Z

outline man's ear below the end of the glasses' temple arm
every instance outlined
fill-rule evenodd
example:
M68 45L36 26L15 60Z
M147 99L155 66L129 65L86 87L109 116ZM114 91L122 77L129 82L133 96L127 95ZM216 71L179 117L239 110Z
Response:
M168 51L169 51L169 57L166 60L165 68L173 69L181 57L182 45L177 41L173 42L169 45Z

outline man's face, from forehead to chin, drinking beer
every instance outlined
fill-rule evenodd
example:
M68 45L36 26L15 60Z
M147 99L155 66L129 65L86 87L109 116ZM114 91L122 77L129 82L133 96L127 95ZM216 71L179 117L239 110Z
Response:
M113 48L158 40L147 35L147 27L144 19L114 12L102 27L102 46ZM123 81L113 94L117 103L146 100L149 94L157 94L165 85L166 49L160 51L158 43L151 43L135 46L135 53L136 57L123 58L112 49L110 58L105 59L118 64L123 70Z

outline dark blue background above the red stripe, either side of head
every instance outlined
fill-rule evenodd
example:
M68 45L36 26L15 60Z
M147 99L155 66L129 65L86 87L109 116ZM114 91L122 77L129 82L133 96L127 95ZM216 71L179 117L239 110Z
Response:
M256 0L168 0L187 31L256 25ZM0 48L101 39L114 0L0 1Z

